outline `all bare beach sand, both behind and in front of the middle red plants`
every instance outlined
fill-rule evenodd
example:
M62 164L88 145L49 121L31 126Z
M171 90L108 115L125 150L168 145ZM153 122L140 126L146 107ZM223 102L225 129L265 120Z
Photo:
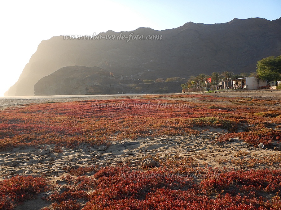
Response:
M192 93L190 93L192 94ZM202 94L202 93L196 93ZM174 100L170 97L173 94L157 94L153 97L165 96L163 99ZM174 94L181 95L181 94ZM244 97L258 98L266 100L281 100L281 92L222 92L202 94L202 97L209 95L222 97ZM95 96L50 96L50 97L5 97L0 99L1 109L7 107L23 107L28 103L46 103L46 102L71 102L83 100L108 100L108 99L142 99L147 98L146 94L128 94L128 95L95 95ZM213 103L229 104L228 102L209 102L196 101L194 98L182 98L193 103ZM266 107L266 106L263 106ZM280 110L280 107L267 107L269 110ZM157 166L161 161L167 159L178 159L190 157L199 167L212 168L232 168L233 170L247 169L249 165L254 169L280 167L280 151L274 149L259 149L253 145L241 140L239 137L231 141L219 142L218 137L228 132L222 128L199 128L194 127L198 134L188 134L185 136L159 137L139 137L137 139L121 139L110 141L107 145L88 145L80 144L77 148L71 149L66 146L59 149L55 145L37 145L36 147L17 147L12 150L2 151L0 153L0 179L11 178L15 175L44 176L55 184L55 190L68 186L68 182L62 179L67 175L70 169L79 167L96 166L118 166L125 164L127 166L143 169L143 160L154 158ZM272 128L281 130L281 128ZM242 132L238 130L237 132ZM279 145L279 142L274 142ZM88 172L85 175L91 177L94 172ZM54 190L52 191L54 192ZM50 192L49 192L50 194ZM24 204L15 209L39 210L50 202L43 201L46 193L40 193L36 199L25 201Z

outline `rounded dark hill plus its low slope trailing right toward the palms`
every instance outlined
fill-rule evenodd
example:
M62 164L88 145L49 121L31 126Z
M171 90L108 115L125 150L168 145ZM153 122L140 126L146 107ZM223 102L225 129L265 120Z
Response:
M181 91L178 82L151 82L120 75L99 67L67 66L43 77L34 85L35 95L121 94L132 92L173 93Z

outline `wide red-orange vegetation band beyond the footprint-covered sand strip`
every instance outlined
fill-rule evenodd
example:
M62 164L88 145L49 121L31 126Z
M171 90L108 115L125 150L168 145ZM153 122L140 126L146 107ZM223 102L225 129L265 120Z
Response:
M0 111L0 149L39 144L73 147L81 142L100 145L123 138L198 133L193 127L235 131L254 124L264 128L270 121L279 122L280 115L280 111L269 113L259 107L249 110L239 105L159 99L30 104Z

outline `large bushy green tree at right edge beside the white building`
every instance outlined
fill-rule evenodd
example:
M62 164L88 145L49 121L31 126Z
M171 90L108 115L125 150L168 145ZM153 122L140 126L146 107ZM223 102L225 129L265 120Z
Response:
M279 80L281 78L281 55L270 56L257 61L257 74L267 83Z

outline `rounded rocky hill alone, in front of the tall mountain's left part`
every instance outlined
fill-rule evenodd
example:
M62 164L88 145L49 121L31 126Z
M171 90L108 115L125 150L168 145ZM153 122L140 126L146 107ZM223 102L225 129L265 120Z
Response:
M99 67L66 66L40 79L35 85L35 95L117 94L129 90L121 82L133 83L110 76ZM124 89L125 88L125 89Z

